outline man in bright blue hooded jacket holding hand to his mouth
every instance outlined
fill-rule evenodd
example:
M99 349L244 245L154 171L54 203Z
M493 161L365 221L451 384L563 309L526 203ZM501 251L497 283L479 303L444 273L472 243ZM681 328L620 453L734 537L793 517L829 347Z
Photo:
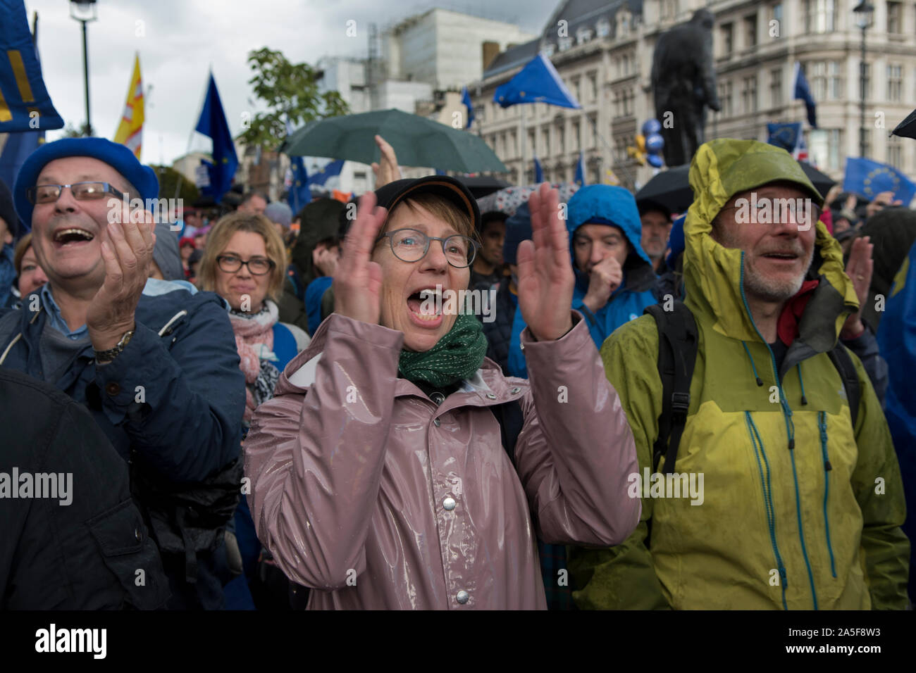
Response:
M629 191L610 185L589 185L567 204L566 228L573 253L573 309L580 311L598 348L620 325L636 320L656 303L656 282L649 256L642 249L642 225ZM517 310L509 348L509 372L528 377L520 350L525 322Z

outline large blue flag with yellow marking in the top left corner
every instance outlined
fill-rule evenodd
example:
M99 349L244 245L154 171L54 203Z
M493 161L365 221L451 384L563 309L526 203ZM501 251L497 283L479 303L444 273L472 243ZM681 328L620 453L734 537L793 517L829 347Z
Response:
M23 0L0 0L0 133L63 127L28 30Z

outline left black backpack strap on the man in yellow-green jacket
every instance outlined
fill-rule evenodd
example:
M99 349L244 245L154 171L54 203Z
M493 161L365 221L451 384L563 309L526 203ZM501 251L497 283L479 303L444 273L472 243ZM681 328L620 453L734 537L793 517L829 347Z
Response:
M674 302L674 309L666 311L652 304L643 311L649 313L659 328L659 376L661 378L661 414L659 436L652 446L652 472L665 456L665 472L674 472L678 458L678 445L687 412L690 409L690 384L699 338L693 314L682 301Z

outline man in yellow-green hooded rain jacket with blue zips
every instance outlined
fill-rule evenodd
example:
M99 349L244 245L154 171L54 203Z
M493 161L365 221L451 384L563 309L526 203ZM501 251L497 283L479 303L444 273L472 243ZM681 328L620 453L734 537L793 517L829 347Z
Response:
M636 438L643 474L633 475L631 493L642 497L642 516L617 547L571 549L574 600L580 608L905 608L910 543L888 424L852 355L853 427L827 354L858 301L840 245L823 223L812 225L820 195L785 150L752 140L704 144L690 182L685 303L699 349L674 470L692 488L672 497L660 480L643 483L662 384L658 328L642 316L601 349ZM801 200L791 201L801 210L786 212L785 199Z

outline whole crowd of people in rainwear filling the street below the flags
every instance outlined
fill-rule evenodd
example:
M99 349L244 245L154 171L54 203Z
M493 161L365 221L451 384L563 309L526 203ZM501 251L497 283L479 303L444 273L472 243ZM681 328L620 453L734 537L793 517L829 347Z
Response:
M686 212L478 201L376 143L358 200L179 232L112 216L158 180L104 139L0 183L0 472L74 484L0 474L2 607L911 607L912 316L879 321L916 213L750 140L699 148Z

